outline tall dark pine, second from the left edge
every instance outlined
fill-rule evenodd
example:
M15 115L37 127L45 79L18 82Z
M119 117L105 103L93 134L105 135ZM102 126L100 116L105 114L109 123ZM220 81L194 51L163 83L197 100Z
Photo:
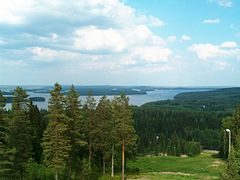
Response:
M22 88L17 87L14 90L9 143L16 148L14 166L19 179L24 177L27 162L32 157L32 128L27 97L26 91Z

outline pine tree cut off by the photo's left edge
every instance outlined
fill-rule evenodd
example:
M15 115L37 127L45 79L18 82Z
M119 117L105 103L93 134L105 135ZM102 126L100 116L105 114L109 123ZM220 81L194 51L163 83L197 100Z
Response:
M6 98L0 91L0 179L11 179L13 173L13 160L15 149L10 149L7 144L7 123L5 121Z

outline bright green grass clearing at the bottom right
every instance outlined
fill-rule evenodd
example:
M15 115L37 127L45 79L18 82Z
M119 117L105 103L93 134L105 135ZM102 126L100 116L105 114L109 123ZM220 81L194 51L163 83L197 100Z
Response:
M144 156L136 161L129 161L130 169L139 168L140 174L126 175L133 180L192 180L221 179L225 163L212 155L216 152L204 151L196 157ZM103 179L109 179L104 177ZM116 177L120 179L120 177Z

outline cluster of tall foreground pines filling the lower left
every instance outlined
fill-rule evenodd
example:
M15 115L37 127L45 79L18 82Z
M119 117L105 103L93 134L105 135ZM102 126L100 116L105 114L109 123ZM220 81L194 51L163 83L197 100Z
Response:
M84 104L72 86L55 84L48 111L17 87L12 109L0 94L0 179L97 179L114 176L136 152L132 110L125 95ZM109 176L110 177L110 176Z

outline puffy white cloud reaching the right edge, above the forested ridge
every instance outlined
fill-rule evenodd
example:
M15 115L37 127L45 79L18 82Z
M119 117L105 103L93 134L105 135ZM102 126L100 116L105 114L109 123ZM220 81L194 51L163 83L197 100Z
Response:
M222 46L223 45L223 46ZM195 52L199 59L208 60L212 58L225 58L225 57L237 57L240 55L239 48L226 48L227 46L233 45L229 42L224 42L221 45L213 44L194 44L188 49L192 52Z

